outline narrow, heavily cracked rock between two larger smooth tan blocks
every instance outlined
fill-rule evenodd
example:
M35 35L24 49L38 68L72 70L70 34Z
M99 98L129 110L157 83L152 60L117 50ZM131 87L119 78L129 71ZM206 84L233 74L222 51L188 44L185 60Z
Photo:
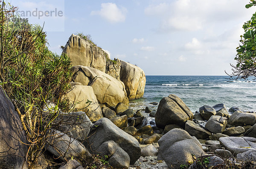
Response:
M107 60L106 74L111 75L116 80L120 80L121 63L119 59Z

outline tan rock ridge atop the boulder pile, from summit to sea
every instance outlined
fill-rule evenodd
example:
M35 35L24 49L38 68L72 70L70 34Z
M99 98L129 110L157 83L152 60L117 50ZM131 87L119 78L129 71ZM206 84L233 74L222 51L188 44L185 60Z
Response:
M67 41L63 53L70 57L73 66L92 67L122 81L129 100L143 97L146 77L138 66L116 58L111 60L108 52L74 34Z

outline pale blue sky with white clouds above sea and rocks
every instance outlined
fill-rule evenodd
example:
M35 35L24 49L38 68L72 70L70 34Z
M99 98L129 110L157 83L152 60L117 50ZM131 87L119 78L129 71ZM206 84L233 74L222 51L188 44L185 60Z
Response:
M146 75L226 75L235 64L249 0L9 0L20 17L44 25L49 49L61 54L71 34L90 34ZM47 11L55 11L49 16ZM28 16L21 11L42 11ZM46 12L46 13L45 13ZM58 16L55 15L58 13ZM47 15L47 16L46 16Z

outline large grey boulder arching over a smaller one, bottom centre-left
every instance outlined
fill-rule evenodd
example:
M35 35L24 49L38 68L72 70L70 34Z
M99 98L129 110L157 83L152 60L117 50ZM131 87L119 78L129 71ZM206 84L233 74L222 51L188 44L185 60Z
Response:
M141 155L139 142L133 136L114 125L108 118L101 118L94 125L88 135L88 145L95 152L102 143L113 140L130 157L130 164L134 164Z

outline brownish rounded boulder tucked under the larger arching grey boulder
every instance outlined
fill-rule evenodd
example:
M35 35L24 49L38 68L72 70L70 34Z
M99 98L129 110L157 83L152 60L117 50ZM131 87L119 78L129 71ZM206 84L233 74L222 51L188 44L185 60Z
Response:
M119 145L112 141L106 141L99 146L96 153L104 157L108 156L109 164L116 169L128 169L130 165L129 155Z

